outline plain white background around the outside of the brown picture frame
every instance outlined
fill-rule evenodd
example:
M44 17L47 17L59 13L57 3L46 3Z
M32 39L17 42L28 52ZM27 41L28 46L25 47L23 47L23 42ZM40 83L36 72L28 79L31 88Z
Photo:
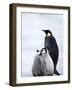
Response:
M72 0L0 0L0 90L71 90L70 84L11 87L9 82L9 4L35 3L72 6ZM72 19L71 19L72 21ZM72 50L72 49L71 49ZM71 66L72 68L72 66ZM72 75L72 73L71 73ZM71 79L72 81L72 79Z

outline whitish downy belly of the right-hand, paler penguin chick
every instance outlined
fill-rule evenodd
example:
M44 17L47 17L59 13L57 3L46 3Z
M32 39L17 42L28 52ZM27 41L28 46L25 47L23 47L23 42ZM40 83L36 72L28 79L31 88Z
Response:
M45 57L45 64L46 64L45 74L53 74L54 73L54 64L49 55L46 55L46 57Z

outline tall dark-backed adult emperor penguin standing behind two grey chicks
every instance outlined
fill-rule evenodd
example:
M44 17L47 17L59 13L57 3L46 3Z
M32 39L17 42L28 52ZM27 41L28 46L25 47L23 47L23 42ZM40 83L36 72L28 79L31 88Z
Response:
M45 42L44 42L44 47L48 49L49 54L53 60L54 63L54 73L56 75L60 75L60 73L56 70L57 62L58 62L58 57L59 57L59 49L57 42L52 35L52 32L50 30L42 30L45 32Z

